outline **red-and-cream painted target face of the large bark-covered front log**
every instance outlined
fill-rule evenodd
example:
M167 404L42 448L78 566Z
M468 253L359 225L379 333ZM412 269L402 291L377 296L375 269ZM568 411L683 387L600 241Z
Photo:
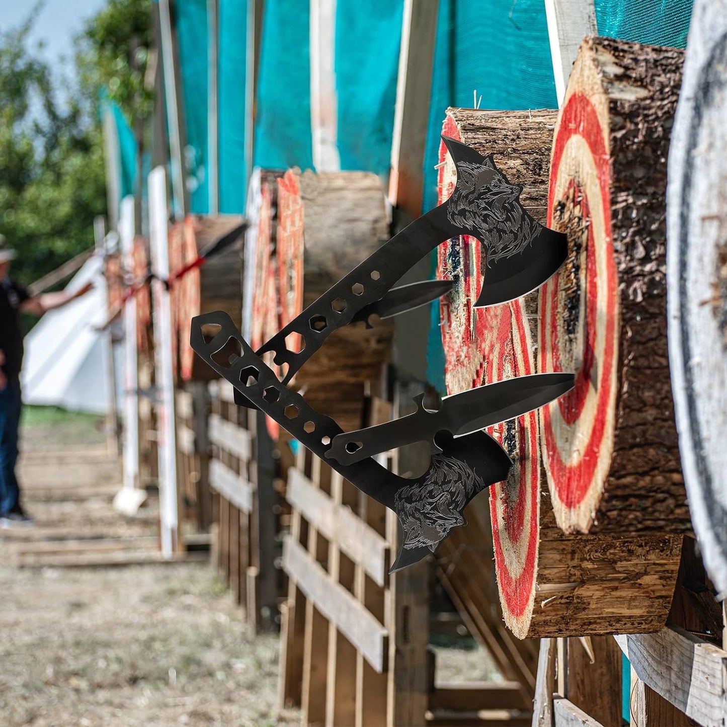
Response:
M569 532L587 531L583 523L592 510L587 495L606 477L614 433L618 281L609 182L603 124L587 97L571 95L553 145L547 223L558 228L554 212L563 201L579 205L587 225L585 249L543 286L539 305L539 370L577 371L574 390L542 410L542 456L553 509L558 525ZM569 312L574 300L576 315Z

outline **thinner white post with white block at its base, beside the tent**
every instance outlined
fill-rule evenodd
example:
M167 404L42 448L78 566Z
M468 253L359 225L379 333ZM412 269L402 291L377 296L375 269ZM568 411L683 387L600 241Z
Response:
M121 201L119 244L122 269L134 270L134 198ZM124 487L136 489L139 478L139 388L137 361L137 302L132 295L124 305Z

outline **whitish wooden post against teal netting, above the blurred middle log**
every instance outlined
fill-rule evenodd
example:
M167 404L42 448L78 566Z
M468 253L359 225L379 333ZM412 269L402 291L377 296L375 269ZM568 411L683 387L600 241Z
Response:
M336 0L310 0L310 130L318 172L341 168L335 49Z

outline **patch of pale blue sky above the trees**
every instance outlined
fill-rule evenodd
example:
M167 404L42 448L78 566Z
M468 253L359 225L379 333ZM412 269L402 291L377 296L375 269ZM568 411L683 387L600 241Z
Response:
M0 31L23 23L34 4L28 0L0 0ZM45 0L31 33L31 48L44 40L47 60L55 61L61 55L70 59L73 36L81 30L84 20L105 4L106 0Z

